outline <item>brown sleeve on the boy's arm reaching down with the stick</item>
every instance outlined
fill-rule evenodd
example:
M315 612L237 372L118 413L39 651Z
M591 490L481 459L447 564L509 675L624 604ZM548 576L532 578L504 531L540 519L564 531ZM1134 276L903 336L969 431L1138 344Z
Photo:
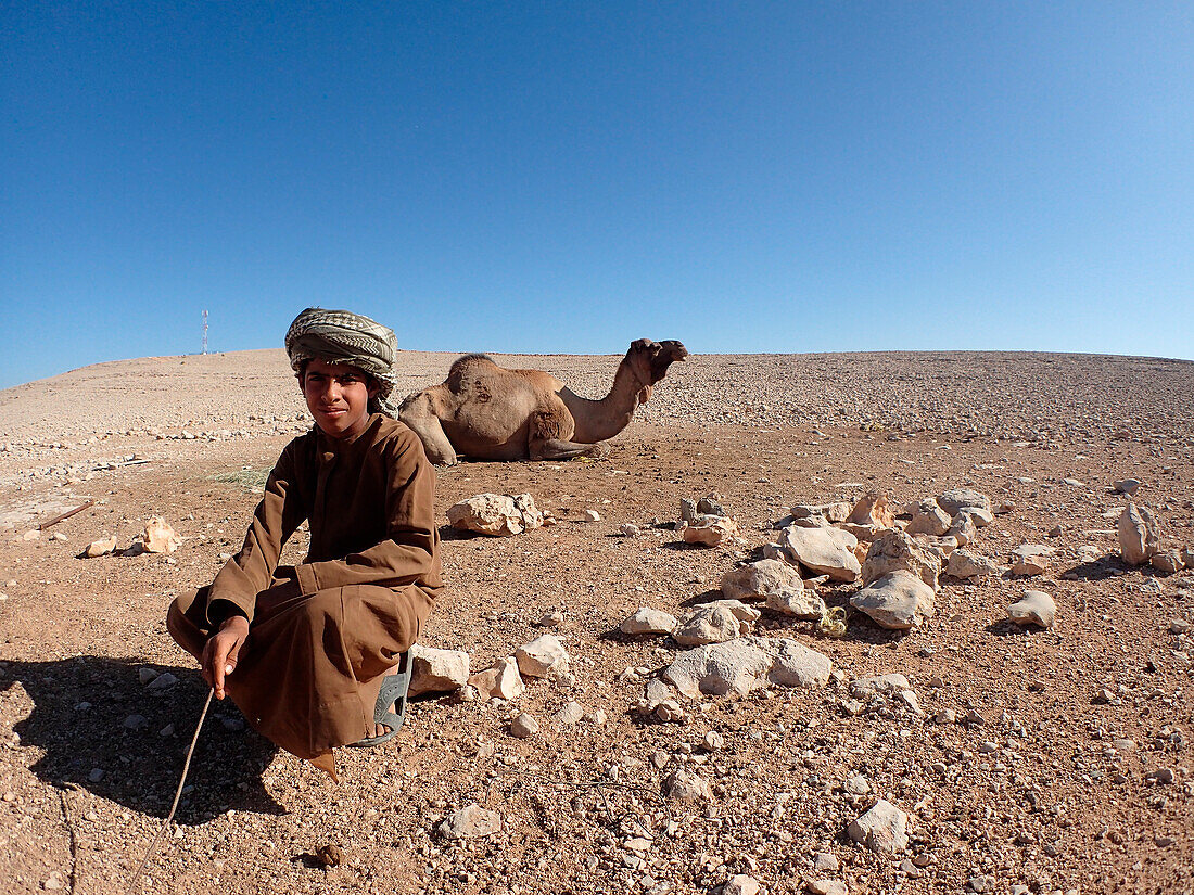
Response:
M273 570L278 567L282 545L303 520L300 501L290 492L295 476L293 449L291 442L282 451L277 465L270 473L265 482L265 495L253 511L253 521L245 533L245 544L240 548L240 553L224 563L216 580L211 582L208 595L208 621L213 624L216 624L216 619L213 618L213 606L219 600L235 604L250 622L253 621L257 594L270 586ZM226 610L219 615L227 617Z

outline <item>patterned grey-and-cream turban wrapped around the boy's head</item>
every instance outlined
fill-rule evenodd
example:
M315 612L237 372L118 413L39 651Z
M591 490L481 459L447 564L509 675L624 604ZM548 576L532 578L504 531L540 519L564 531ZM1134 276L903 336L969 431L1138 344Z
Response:
M287 354L295 370L319 358L368 374L377 381L377 395L369 402L369 409L394 415L396 408L390 399L398 385L394 375L398 339L388 326L350 310L307 308L287 331Z

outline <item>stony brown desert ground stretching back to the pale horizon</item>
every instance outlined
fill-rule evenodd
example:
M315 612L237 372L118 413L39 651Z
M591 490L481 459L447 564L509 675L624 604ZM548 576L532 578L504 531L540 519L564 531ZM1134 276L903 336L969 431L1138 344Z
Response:
M570 674L528 679L509 702L416 700L393 742L338 752L338 783L216 703L137 890L1194 890L1194 573L1121 558L1130 498L1113 487L1138 480L1131 500L1156 516L1161 547L1194 548L1194 363L689 347L605 458L439 469L448 587L424 644L480 671L550 632ZM494 358L593 397L618 362ZM400 389L438 382L451 359L404 352ZM125 891L207 696L166 606L239 549L261 470L309 425L281 351L100 364L0 391L5 891ZM635 610L683 619L720 598L794 506L878 493L903 507L950 488L996 508L968 549L1007 568L1014 548L1047 545L1044 570L942 576L934 615L909 631L851 609L860 584L817 581L847 610L843 636L762 604L753 635L826 656L827 681L676 693L670 721L644 711L688 648L622 634ZM500 538L448 525L449 506L486 492L530 494L555 524ZM739 539L689 545L681 501L710 494ZM181 547L124 555L152 517ZM82 557L110 536L117 553ZM1052 625L1009 621L1028 590L1053 598ZM153 686L167 673L177 683ZM858 679L884 674L912 696L858 698ZM523 714L540 729L518 737ZM669 785L677 771L684 791ZM880 800L906 815L906 842L885 853L850 834ZM473 803L499 828L445 835ZM328 845L339 865L316 857Z

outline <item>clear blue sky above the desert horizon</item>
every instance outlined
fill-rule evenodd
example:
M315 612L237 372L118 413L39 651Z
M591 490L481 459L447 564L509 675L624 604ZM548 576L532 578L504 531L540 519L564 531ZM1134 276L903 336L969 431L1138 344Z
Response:
M279 346L1194 358L1194 6L14 2L0 387Z

